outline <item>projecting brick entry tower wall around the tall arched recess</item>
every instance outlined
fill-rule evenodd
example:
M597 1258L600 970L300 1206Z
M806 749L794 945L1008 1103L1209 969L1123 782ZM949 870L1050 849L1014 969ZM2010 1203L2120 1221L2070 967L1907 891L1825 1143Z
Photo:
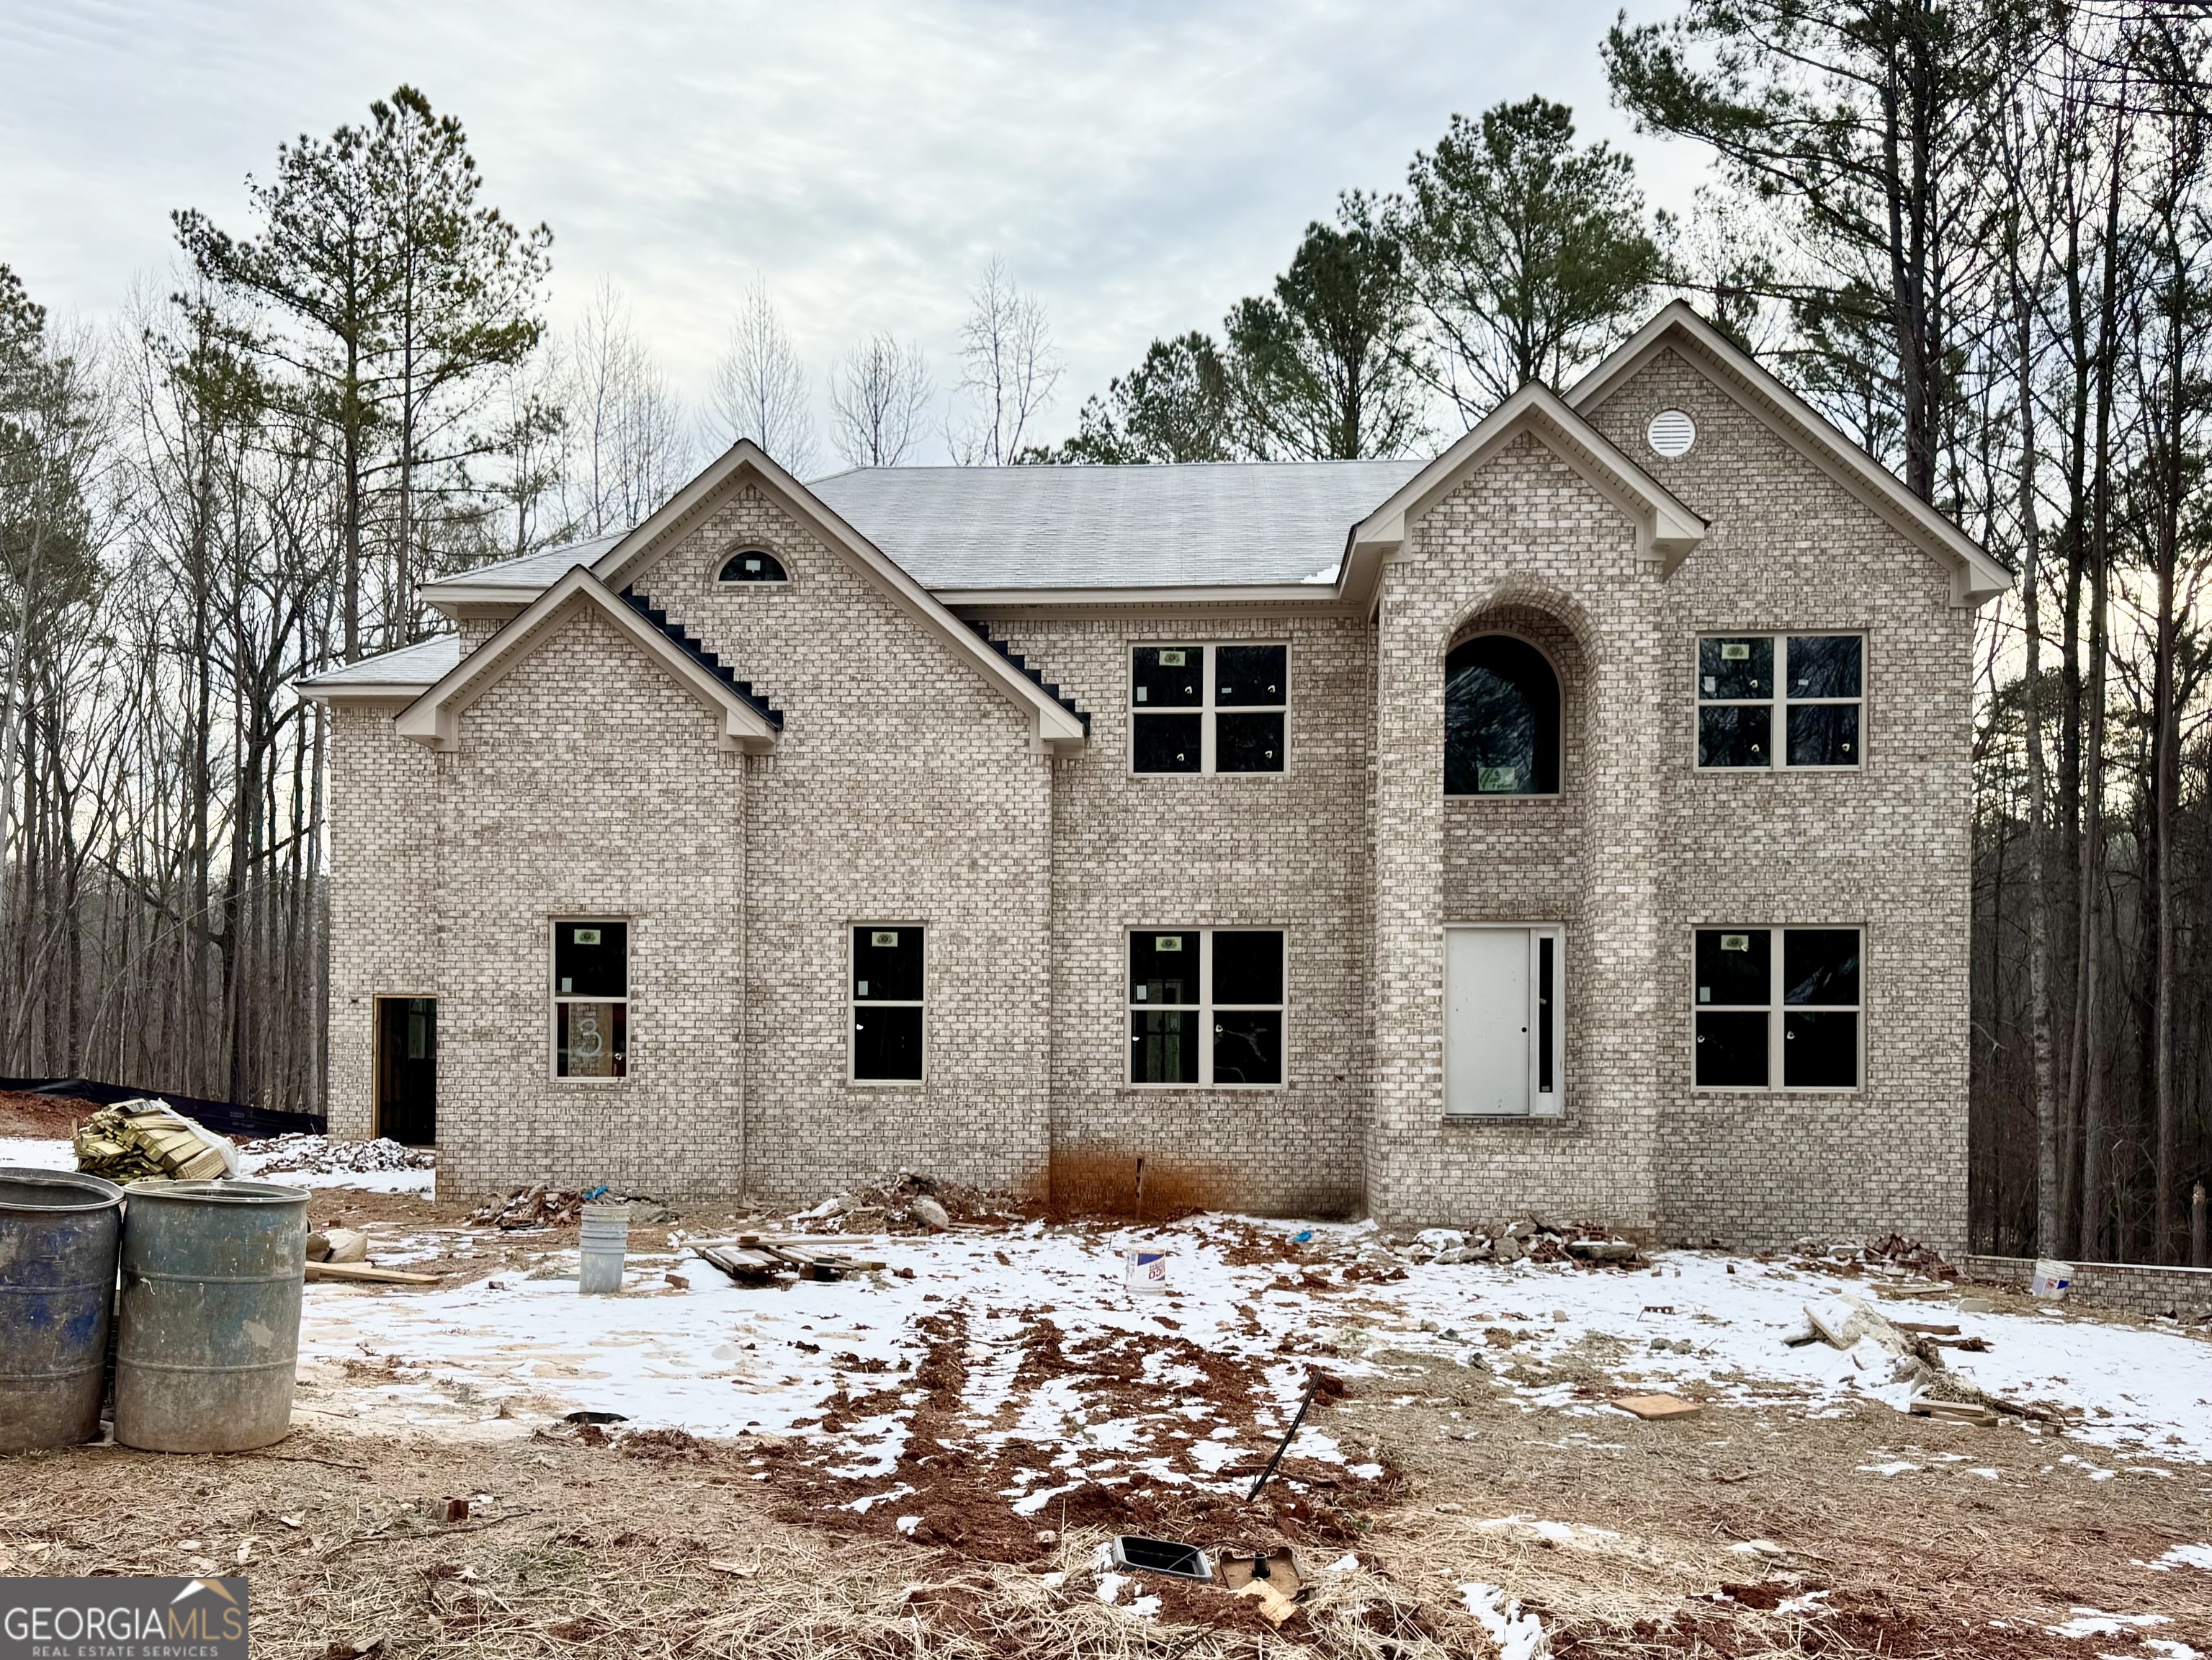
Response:
M1385 571L1367 1202L1389 1222L1655 1222L1657 591L1628 518L1531 436ZM1444 655L1491 629L1566 671L1557 799L1444 797ZM1442 930L1460 921L1566 923L1564 1118L1447 1122Z

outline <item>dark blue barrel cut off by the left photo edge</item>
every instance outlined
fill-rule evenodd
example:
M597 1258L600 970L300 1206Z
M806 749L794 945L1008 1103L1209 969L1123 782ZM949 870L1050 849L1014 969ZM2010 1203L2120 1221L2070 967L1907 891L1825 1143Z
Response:
M0 1166L0 1452L100 1439L124 1191Z

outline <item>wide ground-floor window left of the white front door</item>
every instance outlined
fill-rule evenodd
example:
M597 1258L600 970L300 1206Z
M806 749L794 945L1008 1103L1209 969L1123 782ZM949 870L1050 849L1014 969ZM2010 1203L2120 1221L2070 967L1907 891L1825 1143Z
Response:
M1128 1080L1281 1085L1283 930L1130 930Z

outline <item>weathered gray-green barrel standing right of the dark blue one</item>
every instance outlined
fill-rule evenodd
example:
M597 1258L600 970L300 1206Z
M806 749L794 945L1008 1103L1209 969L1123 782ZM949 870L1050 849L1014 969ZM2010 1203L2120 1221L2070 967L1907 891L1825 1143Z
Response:
M303 1189L133 1186L115 1439L146 1452L243 1452L283 1439L305 1277Z

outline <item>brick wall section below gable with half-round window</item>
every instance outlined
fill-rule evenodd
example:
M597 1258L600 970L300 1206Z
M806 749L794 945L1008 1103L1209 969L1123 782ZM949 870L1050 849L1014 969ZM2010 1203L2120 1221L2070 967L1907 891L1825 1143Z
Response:
M717 582L739 547L790 584ZM1029 715L757 487L635 587L785 710L745 817L752 1186L821 1197L907 1166L1042 1191L1053 779ZM847 1080L869 921L929 930L920 1087Z

